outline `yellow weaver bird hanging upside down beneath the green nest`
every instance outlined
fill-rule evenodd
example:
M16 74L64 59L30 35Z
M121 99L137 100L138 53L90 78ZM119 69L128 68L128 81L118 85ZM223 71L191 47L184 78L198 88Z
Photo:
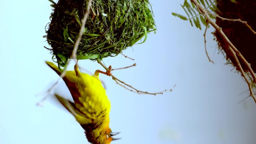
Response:
M61 70L52 62L46 61L58 75ZM94 75L80 73L78 65L74 66L74 71L66 71L63 77L72 97L73 102L55 95L65 108L76 118L76 121L85 130L87 140L92 144L110 144L113 135L109 128L110 101L106 91L99 79L100 70L96 70Z

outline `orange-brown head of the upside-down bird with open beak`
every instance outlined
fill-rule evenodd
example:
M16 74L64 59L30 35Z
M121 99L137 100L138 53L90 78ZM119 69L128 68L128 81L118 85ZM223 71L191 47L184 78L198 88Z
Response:
M91 134L86 133L88 141L92 144L110 144L111 141L119 140L120 138L113 138L113 136L120 132L112 132L110 128L96 128Z

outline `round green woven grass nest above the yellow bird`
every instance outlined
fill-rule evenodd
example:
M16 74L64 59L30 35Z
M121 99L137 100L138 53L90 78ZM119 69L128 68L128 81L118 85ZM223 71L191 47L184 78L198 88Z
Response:
M88 0L49 1L54 11L44 37L52 58L63 67L73 51ZM144 42L147 33L155 30L148 0L93 0L77 59L116 56L143 37Z

